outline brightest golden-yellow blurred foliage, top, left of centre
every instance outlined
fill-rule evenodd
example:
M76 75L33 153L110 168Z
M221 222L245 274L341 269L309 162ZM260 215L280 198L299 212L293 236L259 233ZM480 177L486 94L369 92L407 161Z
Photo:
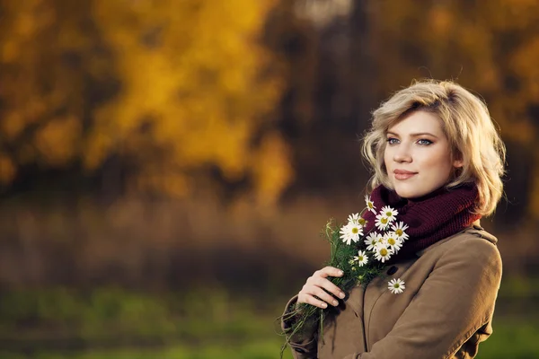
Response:
M253 158L252 135L270 118L280 92L278 77L261 78L274 59L259 38L274 0L164 1L95 0L93 16L110 48L122 83L116 101L99 109L97 126L84 152L89 168L98 166L110 149L141 156L145 138L166 149L160 168L178 180L176 194L187 188L182 171L216 164L228 180L249 174ZM130 4L130 3L129 3ZM141 127L149 127L141 131ZM273 137L272 137L273 138ZM271 140L274 141L274 140ZM276 150L278 151L278 150ZM287 158L279 160L285 168ZM154 166L144 165L144 183L153 183ZM266 174L284 171L276 167ZM175 174L174 174L175 173ZM281 179L279 189L286 185ZM258 182L257 182L258 183ZM260 182L262 183L262 182ZM261 184L262 186L262 184ZM267 185L277 197L279 191Z

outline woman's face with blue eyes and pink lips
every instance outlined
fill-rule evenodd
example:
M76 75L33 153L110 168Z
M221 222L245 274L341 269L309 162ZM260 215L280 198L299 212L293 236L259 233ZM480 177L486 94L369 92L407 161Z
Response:
M449 141L436 115L418 110L389 127L384 163L400 197L415 198L446 184L462 161L451 160Z

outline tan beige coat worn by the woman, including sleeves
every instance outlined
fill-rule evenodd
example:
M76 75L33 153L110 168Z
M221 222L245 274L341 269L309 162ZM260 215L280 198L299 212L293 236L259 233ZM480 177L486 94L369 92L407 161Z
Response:
M501 280L496 241L476 223L418 252L417 258L396 263L388 268L390 276L376 278L366 291L361 286L351 291L340 313L324 321L323 340L317 333L295 337L293 356L473 358L492 333ZM393 278L406 283L403 293L388 290Z

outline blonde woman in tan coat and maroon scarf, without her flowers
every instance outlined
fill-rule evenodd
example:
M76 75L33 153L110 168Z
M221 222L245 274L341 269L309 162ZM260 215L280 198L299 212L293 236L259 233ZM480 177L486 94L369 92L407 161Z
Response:
M364 289L345 298L324 267L287 305L334 306L291 338L295 358L473 358L492 332L501 279L496 238L482 230L502 196L505 147L488 109L452 82L422 81L373 113L363 153L376 208L393 206L410 238ZM366 215L367 230L374 225ZM387 282L401 278L403 293ZM283 328L291 323L284 321Z

